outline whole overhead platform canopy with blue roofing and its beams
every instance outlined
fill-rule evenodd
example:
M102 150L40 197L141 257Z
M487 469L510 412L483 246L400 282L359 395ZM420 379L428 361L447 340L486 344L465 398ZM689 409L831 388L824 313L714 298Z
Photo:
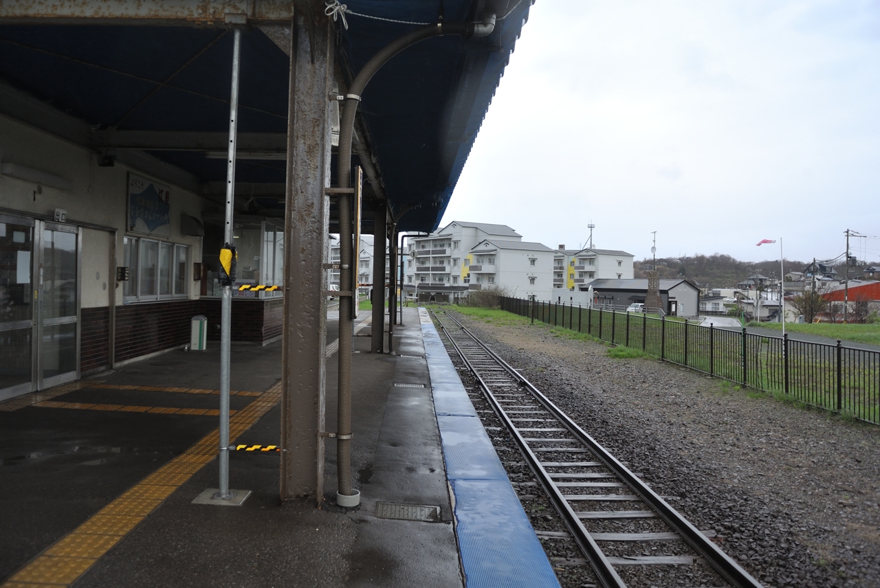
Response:
M436 229L532 0L503 0L485 38L422 41L363 92L356 151L369 200L388 200L400 230ZM233 25L245 25L237 208L282 216L290 19L301 0L0 3L0 113L116 161L221 199ZM344 91L379 48L414 23L473 21L486 0L348 0L337 37ZM494 7L498 10L497 7ZM372 17L372 18L368 18ZM406 22L393 22L406 21ZM357 156L354 163L359 163ZM369 213L366 215L370 218ZM364 228L366 229L366 228Z

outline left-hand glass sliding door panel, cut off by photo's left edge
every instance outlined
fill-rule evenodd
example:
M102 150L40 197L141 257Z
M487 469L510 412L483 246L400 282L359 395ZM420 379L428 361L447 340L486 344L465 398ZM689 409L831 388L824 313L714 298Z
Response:
M34 221L0 214L0 402L36 389Z

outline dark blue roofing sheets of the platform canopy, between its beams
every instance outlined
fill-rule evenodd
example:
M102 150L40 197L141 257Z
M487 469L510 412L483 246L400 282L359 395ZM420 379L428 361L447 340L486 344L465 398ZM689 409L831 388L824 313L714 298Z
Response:
M381 18L433 23L439 3L346 4L351 11ZM529 4L518 4L486 38L439 37L407 48L363 92L363 122L385 195L395 212L411 207L400 230L436 229ZM446 0L444 10L446 22L473 18L472 0ZM348 30L337 22L338 48L355 73L381 47L417 26L347 18ZM231 46L232 35L217 29L3 25L0 77L93 127L223 132L228 129ZM287 55L258 30L242 35L239 132L286 133L288 83ZM223 159L194 151L150 153L203 182L225 179ZM283 183L285 164L239 160L236 179Z

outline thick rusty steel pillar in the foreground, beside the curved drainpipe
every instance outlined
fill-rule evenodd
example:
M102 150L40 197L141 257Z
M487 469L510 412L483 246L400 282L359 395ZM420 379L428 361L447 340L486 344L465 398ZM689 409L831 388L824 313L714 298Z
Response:
M320 505L334 32L323 11L300 14L290 35L280 475L282 500L309 496Z

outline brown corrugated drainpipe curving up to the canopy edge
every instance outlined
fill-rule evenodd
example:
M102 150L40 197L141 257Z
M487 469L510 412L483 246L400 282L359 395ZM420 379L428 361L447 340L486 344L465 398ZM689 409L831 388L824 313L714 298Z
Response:
M363 66L355 81L348 88L345 107L339 129L339 167L337 182L340 188L351 187L351 135L355 124L357 105L361 94L370 83L370 78L400 51L419 41L439 37L444 34L458 34L474 37L485 37L495 29L495 14L488 14L481 23L437 23L422 26L394 40ZM351 309L354 301L352 295L352 263L353 245L351 241L351 196L341 193L339 198L339 232L340 232L340 263L341 283L339 301L339 413L336 432L336 470L339 490L336 492L336 504L340 506L356 506L361 502L361 494L351 487ZM393 312L393 309L390 309Z

